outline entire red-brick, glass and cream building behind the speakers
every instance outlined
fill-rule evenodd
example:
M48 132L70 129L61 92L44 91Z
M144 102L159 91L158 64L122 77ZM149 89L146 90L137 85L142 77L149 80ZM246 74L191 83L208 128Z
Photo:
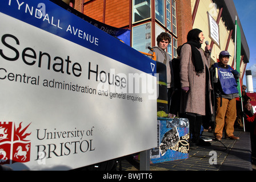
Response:
M199 28L212 48L211 63L226 50L232 55L229 65L233 67L237 16L242 39L241 80L245 75L250 52L233 0L71 0L70 6L110 26L129 28L130 46L137 51L148 52L148 46L156 46L157 36L167 32L171 42L166 51L173 58L177 47L187 41L187 32Z

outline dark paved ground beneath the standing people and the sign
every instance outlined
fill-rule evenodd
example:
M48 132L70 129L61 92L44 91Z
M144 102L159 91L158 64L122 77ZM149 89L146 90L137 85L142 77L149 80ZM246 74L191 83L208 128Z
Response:
M202 137L213 139L209 147L197 146L189 151L189 158L150 164L150 171L253 171L254 151L251 150L250 133L235 130L240 140L222 138L215 141L213 133L203 132ZM217 157L216 157L217 156ZM139 171L139 161L132 155L119 160L119 171Z

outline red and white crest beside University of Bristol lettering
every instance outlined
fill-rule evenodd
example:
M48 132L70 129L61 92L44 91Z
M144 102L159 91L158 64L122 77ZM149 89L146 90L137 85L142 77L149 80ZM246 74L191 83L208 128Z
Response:
M31 142L26 137L31 133L25 133L29 125L22 129L21 122L16 129L14 122L0 122L0 164L30 161Z

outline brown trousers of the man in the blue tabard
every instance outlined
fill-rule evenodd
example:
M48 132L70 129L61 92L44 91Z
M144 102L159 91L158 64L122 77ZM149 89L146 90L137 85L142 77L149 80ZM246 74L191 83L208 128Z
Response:
M226 137L234 135L234 123L237 117L237 108L235 98L229 100L227 98L217 97L217 110L215 118L215 136L222 137L223 128L226 130Z

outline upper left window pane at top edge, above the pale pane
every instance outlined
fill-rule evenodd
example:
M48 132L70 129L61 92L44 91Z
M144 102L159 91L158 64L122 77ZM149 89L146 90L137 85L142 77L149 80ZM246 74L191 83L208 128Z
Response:
M150 0L133 0L133 23L150 18Z

